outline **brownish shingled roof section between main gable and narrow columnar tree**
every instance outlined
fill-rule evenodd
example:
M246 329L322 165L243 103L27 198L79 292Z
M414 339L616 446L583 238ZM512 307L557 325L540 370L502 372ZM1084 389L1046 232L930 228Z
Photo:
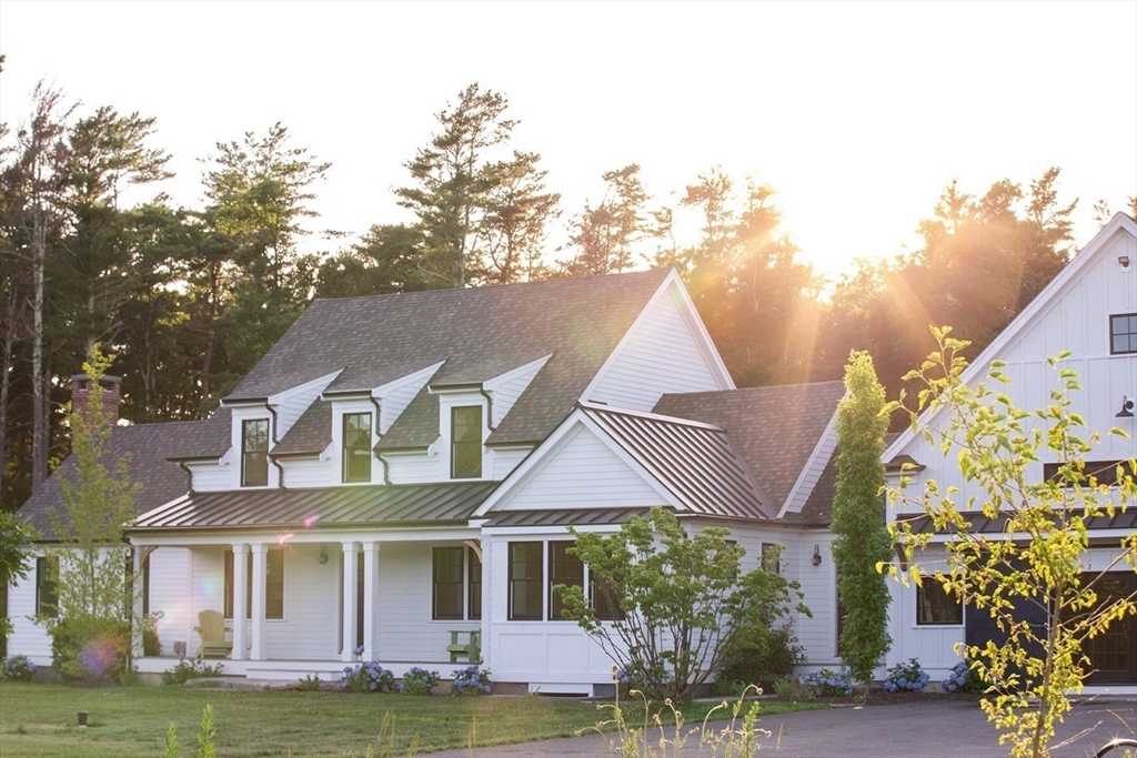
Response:
M656 403L655 413L724 427L769 495L770 505L778 510L844 394L841 382L666 394ZM812 517L828 523L822 513Z

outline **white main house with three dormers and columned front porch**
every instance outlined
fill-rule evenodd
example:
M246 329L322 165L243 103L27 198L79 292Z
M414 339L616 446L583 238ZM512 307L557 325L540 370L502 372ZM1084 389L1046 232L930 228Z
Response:
M843 393L735 389L673 272L316 301L208 420L114 431L144 485L139 610L161 614L163 655L139 669L192 655L213 609L231 675L338 677L357 647L447 675L451 635L476 631L495 682L594 692L611 661L550 593L589 581L567 526L613 531L652 506L729 526L748 566L782 544L814 611L797 633L836 664ZM44 548L68 469L20 510ZM49 664L28 618L42 580L11 588L9 651Z

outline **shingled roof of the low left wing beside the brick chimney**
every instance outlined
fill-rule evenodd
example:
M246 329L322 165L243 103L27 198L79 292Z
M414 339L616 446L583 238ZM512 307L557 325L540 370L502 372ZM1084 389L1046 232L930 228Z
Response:
M190 489L189 475L181 466L166 458L186 450L215 449L218 444L218 430L224 431L224 445L227 448L227 413L205 422L116 426L107 440L103 465L114 468L119 458L131 455L131 478L142 483L142 491L134 499L135 509L141 514L185 494ZM73 476L74 470L75 456L70 456L17 511L19 518L40 530L45 541L57 539L49 514L52 509L57 517L64 513L59 477Z

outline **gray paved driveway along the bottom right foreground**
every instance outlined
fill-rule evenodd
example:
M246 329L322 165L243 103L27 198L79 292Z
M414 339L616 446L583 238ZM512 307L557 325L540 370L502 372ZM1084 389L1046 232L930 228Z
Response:
M1007 749L999 747L995 728L973 702L939 701L899 706L843 707L807 710L758 719L764 738L757 756L802 758L1005 758ZM1113 738L1137 738L1137 702L1096 701L1074 706L1059 728L1057 739L1069 742L1055 747L1056 758L1085 758ZM658 733L650 745L659 751ZM524 744L447 750L431 753L432 758L604 758L617 756L619 745L611 734L587 734L579 738L528 742ZM681 752L667 758L713 758L709 748L702 751L698 735L691 735ZM722 755L722 751L720 751ZM1107 758L1121 758L1114 750Z

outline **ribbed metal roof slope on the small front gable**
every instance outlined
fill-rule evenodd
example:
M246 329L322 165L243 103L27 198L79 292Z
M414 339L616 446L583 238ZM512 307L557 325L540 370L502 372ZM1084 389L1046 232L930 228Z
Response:
M774 517L746 461L721 426L591 403L580 407L691 513Z

